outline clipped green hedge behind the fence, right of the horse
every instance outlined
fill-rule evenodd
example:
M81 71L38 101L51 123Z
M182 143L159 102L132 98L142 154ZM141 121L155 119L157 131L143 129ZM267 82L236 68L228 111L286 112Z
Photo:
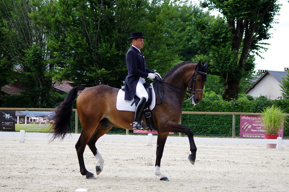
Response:
M262 109L275 105L289 113L289 99L271 100L265 96L253 98L252 96L240 94L237 100L225 101L222 96L214 92L205 92L203 101L193 106L186 99L182 106L183 111L198 112L248 112L261 113ZM236 115L236 136L239 135L240 116ZM194 131L196 135L222 135L232 136L232 115L182 115L182 124ZM284 129L284 136L289 136L289 129Z

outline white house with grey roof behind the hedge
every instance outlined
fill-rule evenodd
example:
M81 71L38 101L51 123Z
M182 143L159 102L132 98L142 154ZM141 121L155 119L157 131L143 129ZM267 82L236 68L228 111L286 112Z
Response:
M282 99L282 77L288 74L287 68L284 71L262 71L263 75L257 79L245 94L253 97L266 96L269 99Z

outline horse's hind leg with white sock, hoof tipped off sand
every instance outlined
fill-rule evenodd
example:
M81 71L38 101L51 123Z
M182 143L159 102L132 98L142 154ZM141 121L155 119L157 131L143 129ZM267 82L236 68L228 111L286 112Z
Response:
M101 136L103 136L111 128L112 127L104 128L104 127L98 125L94 134L92 135L89 142L87 143L87 145L89 146L89 149L92 151L92 153L95 156L96 161L97 161L97 165L95 166L96 175L99 175L101 173L101 171L103 170L104 159L102 158L101 154L96 149L95 143Z

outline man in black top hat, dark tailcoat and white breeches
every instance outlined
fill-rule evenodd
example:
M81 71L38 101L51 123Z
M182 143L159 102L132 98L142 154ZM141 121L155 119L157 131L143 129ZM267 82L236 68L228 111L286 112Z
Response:
M135 95L140 98L135 109L135 116L132 123L133 130L147 127L144 125L141 126L140 123L142 112L144 111L144 107L148 101L148 93L143 86L145 79L154 79L157 75L160 77L160 74L151 71L145 65L144 56L142 56L140 50L144 45L144 39L145 37L142 32L130 33L130 38L128 40L131 42L132 46L126 53L128 75L126 76L124 99L131 101Z

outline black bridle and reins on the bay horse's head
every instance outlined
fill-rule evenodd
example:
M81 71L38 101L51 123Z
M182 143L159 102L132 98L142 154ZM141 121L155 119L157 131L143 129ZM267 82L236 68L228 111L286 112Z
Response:
M162 93L160 92L160 83L161 83L161 85L162 85L162 90L163 90L163 84L165 84L166 86L168 86L168 87L171 88L172 90L176 91L176 92L179 93L180 95L182 95L182 96L184 96L185 98L190 99L190 100L195 96L195 93L204 93L204 90L203 90L203 89L195 89L195 87L196 87L196 75L197 75L197 73L200 74L200 75L203 77L203 79L206 81L207 73L206 73L206 72L203 72L203 71L199 71L199 67L196 66L195 72L192 74L192 76L190 77L190 79L189 79L188 82L187 82L187 85L188 85L188 83L192 80L192 81L191 81L191 86L190 86L189 90L185 90L185 89L182 89L182 88L177 87L177 86L175 86L175 85L172 85L172 84L170 84L170 83L167 83L167 82L165 82L165 81L162 81L162 80L160 80L160 77L155 78L155 80L156 80L156 89L155 89L155 90L156 90L156 96L157 96L157 91L158 91L158 93L159 93L159 95L160 95L160 103L158 103L158 104L161 104L161 103L163 102L163 91L162 91ZM193 89L193 88L194 88L194 89ZM179 90L177 90L177 89L182 90L182 91L185 91L185 92L186 92L185 95L184 95L183 93L181 93L181 92L180 92Z

